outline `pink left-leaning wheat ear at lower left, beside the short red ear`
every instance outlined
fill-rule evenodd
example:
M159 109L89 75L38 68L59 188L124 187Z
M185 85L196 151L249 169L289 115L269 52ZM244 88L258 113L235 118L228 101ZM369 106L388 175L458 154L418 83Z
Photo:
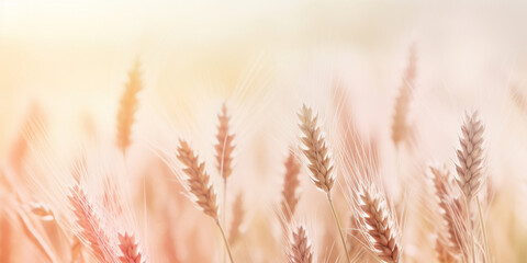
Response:
M78 236L88 243L92 254L99 262L117 262L112 242L104 232L85 191L80 186L75 185L70 192L70 196L68 196L69 203L77 218L77 225L81 228L81 232Z

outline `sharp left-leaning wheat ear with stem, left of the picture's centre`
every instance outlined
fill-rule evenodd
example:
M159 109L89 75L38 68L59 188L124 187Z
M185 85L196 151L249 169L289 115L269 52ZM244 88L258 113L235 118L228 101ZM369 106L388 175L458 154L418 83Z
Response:
M199 162L198 156L194 156L189 144L184 140L180 140L178 147L178 159L184 165L183 172L187 174L187 188L194 196L193 202L205 213L205 215L212 217L216 222L216 226L222 232L222 238L225 243L225 248L228 253L231 262L234 263L233 254L228 240L225 236L220 218L217 215L216 193L209 182L209 174L205 172L205 164Z

